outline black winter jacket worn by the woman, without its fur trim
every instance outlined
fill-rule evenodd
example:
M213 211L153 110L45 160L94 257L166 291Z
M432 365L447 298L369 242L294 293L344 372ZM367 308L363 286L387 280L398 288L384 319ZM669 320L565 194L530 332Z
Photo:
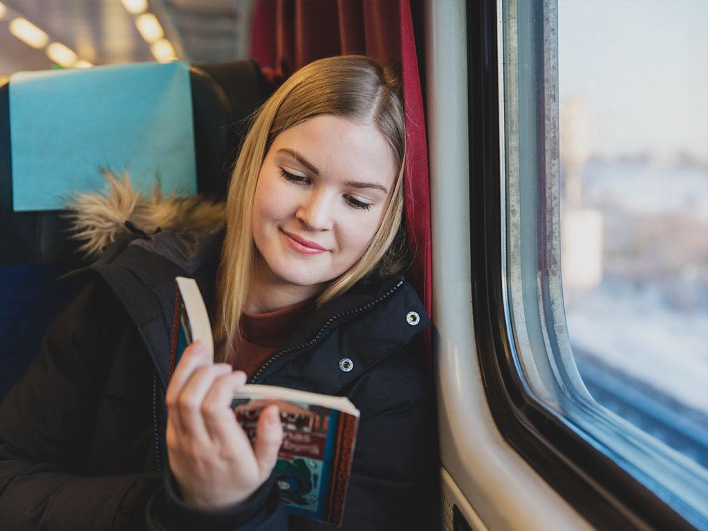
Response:
M273 476L237 508L208 513L185 506L169 474L173 278L196 278L213 306L218 241L166 232L126 239L86 269L90 282L0 406L0 529L333 528L289 518ZM343 530L423 530L435 520L435 413L414 339L429 325L405 280L360 282L303 316L251 379L348 396L360 409ZM341 358L353 370L342 372Z

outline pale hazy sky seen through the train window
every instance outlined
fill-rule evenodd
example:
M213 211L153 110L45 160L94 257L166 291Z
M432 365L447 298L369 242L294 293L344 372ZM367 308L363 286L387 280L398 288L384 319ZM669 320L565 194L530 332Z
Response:
M590 153L708 162L708 0L559 0L559 91Z

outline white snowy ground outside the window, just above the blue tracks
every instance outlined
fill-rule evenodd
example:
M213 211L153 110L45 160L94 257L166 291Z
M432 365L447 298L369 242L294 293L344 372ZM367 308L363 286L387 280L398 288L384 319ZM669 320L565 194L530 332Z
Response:
M708 413L708 314L678 312L656 287L605 282L566 307L573 346Z

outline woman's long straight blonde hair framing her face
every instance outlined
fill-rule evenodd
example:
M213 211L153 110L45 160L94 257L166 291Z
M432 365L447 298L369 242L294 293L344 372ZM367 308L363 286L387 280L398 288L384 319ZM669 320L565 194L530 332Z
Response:
M331 282L318 297L317 306L346 292L366 275L388 276L403 268L406 135L398 77L370 57L319 59L290 76L258 110L236 161L227 195L227 230L217 282L215 350L219 360L229 358L256 268L251 212L265 154L281 132L323 114L377 125L392 149L398 172L382 222L362 258Z

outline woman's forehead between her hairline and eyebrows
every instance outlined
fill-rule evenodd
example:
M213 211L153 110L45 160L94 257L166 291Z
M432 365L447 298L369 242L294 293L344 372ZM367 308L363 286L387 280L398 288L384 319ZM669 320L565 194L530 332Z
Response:
M319 115L290 127L275 138L270 152L291 149L323 176L375 180L389 188L398 168L386 137L373 124Z

